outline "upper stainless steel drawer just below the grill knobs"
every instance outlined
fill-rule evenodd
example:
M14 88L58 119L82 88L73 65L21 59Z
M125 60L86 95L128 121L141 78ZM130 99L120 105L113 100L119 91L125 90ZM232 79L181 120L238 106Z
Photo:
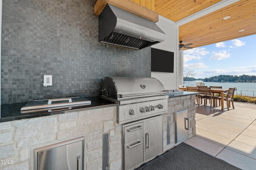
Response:
M124 143L143 137L143 122L124 128Z

